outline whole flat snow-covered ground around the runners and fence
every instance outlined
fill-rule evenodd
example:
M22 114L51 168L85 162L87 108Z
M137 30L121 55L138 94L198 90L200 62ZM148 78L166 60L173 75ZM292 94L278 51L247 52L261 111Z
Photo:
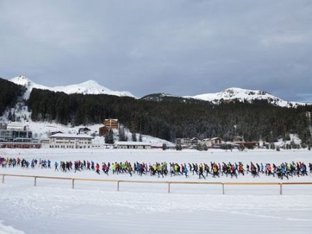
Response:
M284 161L312 161L307 150L283 151L250 150L225 152L213 150L8 150L0 149L1 156L23 156L26 159L51 161L175 161L200 163L210 161L242 161L248 163ZM143 179L157 181L199 181L197 176L184 177L97 175L94 172L54 172L53 169L0 168L1 173L38 174L57 177L101 179ZM277 181L261 175L253 179L213 179L206 181ZM294 177L290 181L312 181L309 177ZM171 194L166 184L116 183L6 177L0 183L0 233L310 233L312 228L312 187L284 186L226 186L225 195L219 185L172 185ZM4 226L5 225L5 226ZM13 228L8 228L12 226ZM14 232L15 231L15 232Z

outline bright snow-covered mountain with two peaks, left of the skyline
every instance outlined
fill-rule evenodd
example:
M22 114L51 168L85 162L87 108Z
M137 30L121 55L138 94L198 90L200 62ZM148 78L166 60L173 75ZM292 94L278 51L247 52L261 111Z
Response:
M16 78L12 78L10 80L11 82L14 82L15 84L20 84L26 87L26 93L24 95L24 98L28 98L31 90L33 88L35 89L48 89L51 91L59 91L64 93L83 93L83 94L109 94L114 96L129 96L132 98L136 98L132 93L128 91L112 91L110 89L107 89L106 87L101 86L98 84L98 82L94 80L88 80L86 82L83 82L81 84L71 84L67 86L57 86L57 87L46 87L41 84L36 84L32 80L26 78L25 76L18 76Z

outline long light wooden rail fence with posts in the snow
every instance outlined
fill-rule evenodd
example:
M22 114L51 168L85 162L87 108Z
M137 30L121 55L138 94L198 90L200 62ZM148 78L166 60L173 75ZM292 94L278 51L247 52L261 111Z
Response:
M83 179L83 178L69 178L69 177L43 177L23 174L0 174L2 183L5 177L28 177L34 178L34 186L37 186L37 179L60 179L71 181L71 188L75 188L75 181L93 181L93 182L114 182L119 192L120 183L162 183L167 184L168 193L171 193L171 184L200 184L200 185L220 185L222 186L222 194L225 195L225 186L279 186L279 195L283 195L283 186L290 185L312 185L312 182L184 182L184 181L133 181L133 180L116 180L116 179Z

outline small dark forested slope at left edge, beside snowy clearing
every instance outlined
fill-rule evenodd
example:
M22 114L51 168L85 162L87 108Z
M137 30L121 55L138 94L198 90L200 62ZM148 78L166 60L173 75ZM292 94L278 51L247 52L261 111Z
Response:
M0 116L8 107L14 107L18 98L23 96L25 88L0 78Z

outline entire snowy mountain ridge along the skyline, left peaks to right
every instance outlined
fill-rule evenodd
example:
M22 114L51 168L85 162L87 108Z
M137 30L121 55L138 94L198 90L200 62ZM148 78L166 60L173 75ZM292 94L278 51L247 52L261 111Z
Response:
M50 91L61 91L67 94L72 93L83 93L83 94L107 94L113 96L129 96L132 98L137 98L129 91L112 91L106 87L101 86L98 82L94 80L87 80L80 84L70 84L67 86L56 86L56 87L46 87L42 84L37 84L32 80L26 78L23 75L20 75L16 78L12 78L10 80L15 84L20 84L26 87L26 92L24 94L24 98L28 99L33 88L36 89L47 89ZM241 89L238 87L232 87L220 91L218 93L203 93L196 96L175 96L170 93L150 93L141 99L144 100L155 100L155 101L162 101L164 98L184 98L184 99L196 99L196 100L203 100L212 102L214 104L218 104L223 101L227 100L239 100L240 102L252 102L253 100L268 100L268 102L272 105L276 105L279 107L297 107L298 105L311 105L311 103L304 103L304 102L291 102L286 101L277 96L273 96L272 94L268 93L267 91L262 90L252 90L252 89ZM138 98L137 98L138 99Z

